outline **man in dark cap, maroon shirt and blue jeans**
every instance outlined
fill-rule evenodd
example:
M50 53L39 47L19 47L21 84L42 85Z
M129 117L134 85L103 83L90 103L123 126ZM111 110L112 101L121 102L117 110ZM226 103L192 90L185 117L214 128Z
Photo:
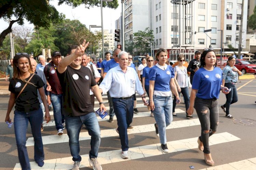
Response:
M56 72L56 68L60 61L61 53L59 51L54 51L51 63L44 67L47 85L52 87L52 91L50 91L50 94L47 96L47 102L48 104L53 104L53 116L57 134L59 136L63 134L63 129L65 129L65 119L61 111L63 92Z

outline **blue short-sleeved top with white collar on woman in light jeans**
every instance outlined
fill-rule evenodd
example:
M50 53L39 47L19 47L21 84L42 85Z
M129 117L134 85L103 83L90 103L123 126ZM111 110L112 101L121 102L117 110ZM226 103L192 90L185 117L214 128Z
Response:
M166 70L153 66L148 73L148 79L150 81L155 81L154 90L156 91L170 91L171 78L174 78L174 71L173 67L169 65L167 65Z

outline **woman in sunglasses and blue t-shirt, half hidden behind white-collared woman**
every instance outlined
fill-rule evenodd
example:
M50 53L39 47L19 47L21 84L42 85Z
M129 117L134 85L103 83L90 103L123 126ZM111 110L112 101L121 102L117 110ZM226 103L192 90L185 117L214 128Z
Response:
M153 67L153 62L154 62L154 59L153 57L147 57L147 66L145 68L143 68L143 73L142 73L142 87L143 87L143 90L145 92L147 92L147 96L149 97L149 80L148 80L148 73L149 73L149 70L150 68ZM150 106L148 106L148 109L150 109ZM153 114L153 111L150 109L151 111L151 114L150 116L151 117L154 117L154 114Z

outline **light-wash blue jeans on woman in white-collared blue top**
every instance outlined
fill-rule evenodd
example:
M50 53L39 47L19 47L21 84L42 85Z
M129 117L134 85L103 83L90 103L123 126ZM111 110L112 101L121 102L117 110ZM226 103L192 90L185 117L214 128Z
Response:
M172 122L172 96L153 95L153 101L155 105L153 113L158 125L160 143L166 144L166 127Z

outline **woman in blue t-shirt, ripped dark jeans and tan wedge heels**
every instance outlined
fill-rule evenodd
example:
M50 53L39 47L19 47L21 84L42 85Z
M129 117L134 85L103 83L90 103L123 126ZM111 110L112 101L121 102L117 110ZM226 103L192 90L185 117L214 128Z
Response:
M198 149L203 151L205 163L213 165L209 148L209 137L213 135L219 123L219 91L228 94L227 87L222 85L222 70L216 67L216 56L213 48L204 49L200 58L200 69L194 74L190 94L189 115L196 109L201 123L201 136L198 138Z

